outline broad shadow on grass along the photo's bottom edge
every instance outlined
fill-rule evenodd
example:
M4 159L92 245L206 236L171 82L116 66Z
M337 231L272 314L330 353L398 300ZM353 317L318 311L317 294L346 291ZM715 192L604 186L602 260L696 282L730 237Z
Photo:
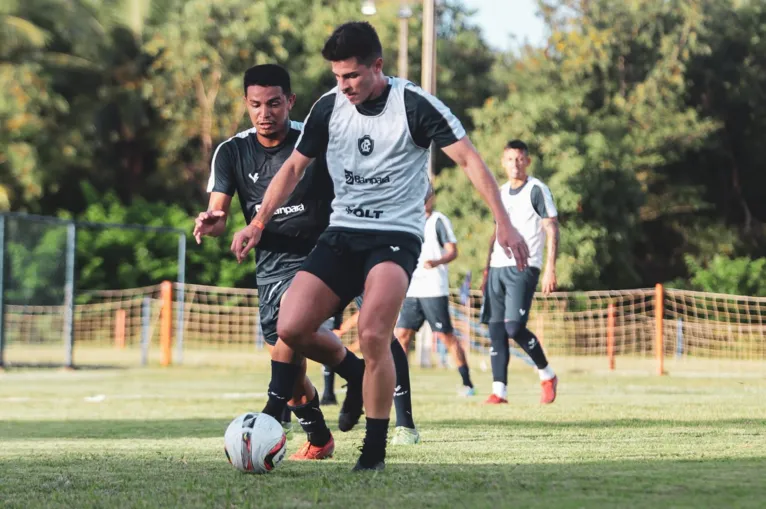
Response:
M286 461L245 475L223 459L112 455L0 460L4 507L762 507L766 458L579 463Z

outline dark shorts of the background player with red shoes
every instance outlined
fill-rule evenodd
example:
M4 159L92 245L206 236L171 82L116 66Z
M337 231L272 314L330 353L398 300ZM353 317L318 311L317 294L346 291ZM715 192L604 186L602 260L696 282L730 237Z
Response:
M537 267L527 267L523 271L516 267L490 267L481 322L519 322L522 326L526 325L538 279L540 269Z

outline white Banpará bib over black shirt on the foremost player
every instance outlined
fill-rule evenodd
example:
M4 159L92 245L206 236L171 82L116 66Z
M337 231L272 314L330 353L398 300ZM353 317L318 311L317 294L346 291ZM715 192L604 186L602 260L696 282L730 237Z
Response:
M465 130L437 98L406 80L387 80L383 102L372 112L349 102L337 87L325 94L309 113L297 148L314 157L326 146L335 189L330 228L422 238L428 146L432 140L454 143Z

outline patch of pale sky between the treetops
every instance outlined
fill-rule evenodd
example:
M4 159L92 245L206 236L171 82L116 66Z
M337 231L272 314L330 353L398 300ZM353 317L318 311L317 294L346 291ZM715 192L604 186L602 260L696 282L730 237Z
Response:
M478 11L474 22L492 48L509 50L525 39L534 45L541 45L545 40L535 0L463 0L463 3ZM518 42L514 43L510 34Z

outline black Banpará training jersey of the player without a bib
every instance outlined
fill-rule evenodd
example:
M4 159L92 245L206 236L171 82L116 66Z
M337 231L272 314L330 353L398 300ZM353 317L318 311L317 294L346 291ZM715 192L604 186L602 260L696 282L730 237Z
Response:
M221 143L210 165L208 192L233 196L236 191L245 221L252 221L266 188L282 163L290 157L302 128L303 124L290 122L285 141L272 148L258 142L255 128ZM327 227L332 198L332 181L324 157L320 155L266 225L255 253L258 284L281 281L298 271Z

